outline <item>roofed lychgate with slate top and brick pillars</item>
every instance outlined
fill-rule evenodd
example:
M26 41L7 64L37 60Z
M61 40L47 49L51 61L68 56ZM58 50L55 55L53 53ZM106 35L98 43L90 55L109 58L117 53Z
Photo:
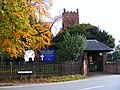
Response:
M84 51L83 74L88 72L103 71L107 60L106 52L113 51L112 48L97 40L87 40L87 48Z

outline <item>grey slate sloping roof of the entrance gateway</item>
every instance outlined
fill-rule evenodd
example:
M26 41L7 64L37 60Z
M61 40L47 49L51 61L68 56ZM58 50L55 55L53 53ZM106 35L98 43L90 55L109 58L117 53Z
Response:
M97 40L87 40L87 48L85 51L113 51L112 48L107 45L97 41Z

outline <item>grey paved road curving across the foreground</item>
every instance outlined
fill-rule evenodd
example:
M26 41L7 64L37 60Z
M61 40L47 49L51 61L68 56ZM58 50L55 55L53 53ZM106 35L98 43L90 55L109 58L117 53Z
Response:
M120 75L94 76L69 82L0 87L0 90L120 90Z

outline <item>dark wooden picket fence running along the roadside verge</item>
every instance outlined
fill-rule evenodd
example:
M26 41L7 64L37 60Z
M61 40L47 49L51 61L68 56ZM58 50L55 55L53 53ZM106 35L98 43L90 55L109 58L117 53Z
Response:
M39 78L43 75L81 74L82 63L70 62L0 62L0 80L22 77Z

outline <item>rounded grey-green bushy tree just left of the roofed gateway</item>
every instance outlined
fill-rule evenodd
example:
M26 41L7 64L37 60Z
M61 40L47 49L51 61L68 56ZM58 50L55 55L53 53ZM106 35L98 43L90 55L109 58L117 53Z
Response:
M64 40L55 44L57 47L56 59L59 61L80 61L86 48L86 39L81 35L70 35L68 32L63 36Z

